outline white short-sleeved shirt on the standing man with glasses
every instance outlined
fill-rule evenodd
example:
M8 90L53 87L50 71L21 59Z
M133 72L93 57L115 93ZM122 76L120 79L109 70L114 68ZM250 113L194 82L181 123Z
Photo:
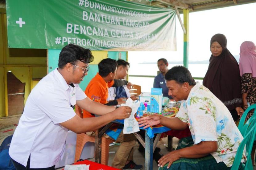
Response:
M30 168L48 168L61 158L68 129L59 123L76 115L71 105L87 96L68 85L57 69L46 75L28 96L9 149L10 157Z

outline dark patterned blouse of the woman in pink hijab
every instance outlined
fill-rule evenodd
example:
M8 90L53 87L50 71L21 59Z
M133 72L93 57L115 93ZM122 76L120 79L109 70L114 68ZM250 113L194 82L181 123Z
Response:
M248 93L246 100L250 105L256 103L256 77L252 77L250 73L242 76L242 93Z

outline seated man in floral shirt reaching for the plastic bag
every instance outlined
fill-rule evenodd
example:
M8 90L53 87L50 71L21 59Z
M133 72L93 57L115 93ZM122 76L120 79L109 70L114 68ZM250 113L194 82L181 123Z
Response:
M140 127L161 123L183 130L189 126L194 145L163 156L159 169L230 169L243 137L227 107L209 89L196 83L185 67L171 68L165 79L169 95L175 101L183 100L178 114L174 118L141 118Z

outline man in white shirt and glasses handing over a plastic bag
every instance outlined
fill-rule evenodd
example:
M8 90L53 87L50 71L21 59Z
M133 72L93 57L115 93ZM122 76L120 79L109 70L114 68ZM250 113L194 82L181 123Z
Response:
M58 68L33 88L9 149L17 170L54 170L63 158L68 129L80 134L129 117L130 107L94 102L79 87L93 59L90 50L69 44L60 52ZM81 119L75 104L102 116Z

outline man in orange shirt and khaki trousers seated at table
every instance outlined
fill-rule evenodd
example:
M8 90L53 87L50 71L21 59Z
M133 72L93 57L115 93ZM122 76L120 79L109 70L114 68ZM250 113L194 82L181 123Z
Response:
M109 58L103 59L98 64L98 67L99 72L89 82L85 89L85 94L93 101L105 105L117 105L125 103L125 98L107 102L108 87L118 87L128 83L126 80L114 80L117 71L117 61ZM94 117L94 115L85 110L83 111L83 116L84 118ZM112 167L124 170L142 169L142 165L137 165L133 162L133 147L136 144L136 137L133 134L123 134L123 131L120 128L118 129L120 130L120 134L119 136L116 136L116 139L104 134L104 137L111 138L121 143L113 159ZM94 136L95 132L87 132L86 134Z

